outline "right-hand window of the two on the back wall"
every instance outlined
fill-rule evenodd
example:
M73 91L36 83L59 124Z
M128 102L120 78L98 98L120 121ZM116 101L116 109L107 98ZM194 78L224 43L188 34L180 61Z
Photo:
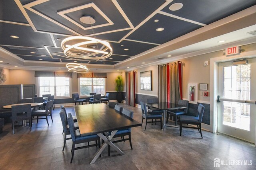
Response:
M105 94L105 78L80 78L80 96Z

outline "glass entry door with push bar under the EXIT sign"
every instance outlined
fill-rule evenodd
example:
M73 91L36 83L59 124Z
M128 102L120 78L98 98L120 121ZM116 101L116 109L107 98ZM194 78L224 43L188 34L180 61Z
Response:
M248 64L218 64L218 95L224 99L256 100L256 59ZM255 143L256 105L220 101L218 132Z

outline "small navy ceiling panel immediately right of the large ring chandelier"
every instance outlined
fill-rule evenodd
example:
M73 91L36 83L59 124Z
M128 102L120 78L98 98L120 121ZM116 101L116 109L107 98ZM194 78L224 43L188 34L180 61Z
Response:
M124 46L121 46L121 45L124 45ZM113 54L134 56L144 51L147 51L149 49L152 49L157 45L138 43L134 41L122 41L121 43L110 43L110 46L113 49ZM129 49L129 50L125 51L124 49Z

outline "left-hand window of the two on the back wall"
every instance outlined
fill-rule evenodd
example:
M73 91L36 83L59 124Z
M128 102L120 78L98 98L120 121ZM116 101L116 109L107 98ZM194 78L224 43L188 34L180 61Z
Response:
M70 78L68 77L39 77L39 92L56 97L70 97Z

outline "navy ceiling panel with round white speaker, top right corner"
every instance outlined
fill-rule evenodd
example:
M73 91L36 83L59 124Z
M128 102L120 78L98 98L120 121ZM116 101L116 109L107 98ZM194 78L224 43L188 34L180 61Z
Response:
M182 3L177 11L169 9L171 4ZM162 11L204 24L221 20L227 16L256 5L256 0L174 0Z

